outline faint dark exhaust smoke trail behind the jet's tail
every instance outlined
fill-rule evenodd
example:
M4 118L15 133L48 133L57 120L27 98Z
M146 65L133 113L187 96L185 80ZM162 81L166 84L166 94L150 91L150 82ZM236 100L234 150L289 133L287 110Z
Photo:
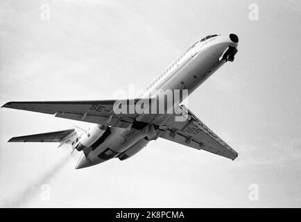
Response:
M44 184L47 184L50 182L55 175L60 173L63 167L71 160L72 155L67 155L65 158L60 160L55 166L53 166L47 173L44 174L42 178L37 180L36 182L31 183L31 185L28 185L21 193L17 194L15 198L12 198L10 200L5 200L3 202L3 207L22 207L23 205L26 205L28 201L33 200L37 194L41 191L41 186Z

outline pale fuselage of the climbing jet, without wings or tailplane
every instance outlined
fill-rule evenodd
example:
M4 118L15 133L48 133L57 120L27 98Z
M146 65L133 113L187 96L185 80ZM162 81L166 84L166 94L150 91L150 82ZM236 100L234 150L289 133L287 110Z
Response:
M225 59L221 59L221 56L229 46L237 47L237 43L232 42L229 35L217 35L209 37L207 40L199 40L150 83L139 98L153 96L153 92L167 89L187 89L188 94L191 94L226 62ZM180 101L175 102L181 103L183 99L185 98L180 98ZM149 140L146 138L149 131L148 127L152 123L160 126L164 122L164 119L160 117L154 119L154 116L149 114L140 114L136 120L149 124L142 128L132 127L130 129L110 127L110 133L107 133L104 139L101 139L103 137L101 126L92 126L88 131L92 139L87 140L83 145L89 147L97 141L101 143L89 149L89 153L81 157L76 168L89 167L104 162L108 160L107 156L110 158L118 156L119 159L123 160L134 155L148 144Z

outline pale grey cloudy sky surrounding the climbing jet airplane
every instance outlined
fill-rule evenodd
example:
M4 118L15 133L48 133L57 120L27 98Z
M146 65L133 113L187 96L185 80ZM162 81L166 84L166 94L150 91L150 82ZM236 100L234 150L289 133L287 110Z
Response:
M301 207L300 10L297 0L1 0L1 105L117 99L205 35L236 33L234 62L189 109L239 157L157 139L123 162L75 170L68 146L7 141L88 123L1 109L0 207Z

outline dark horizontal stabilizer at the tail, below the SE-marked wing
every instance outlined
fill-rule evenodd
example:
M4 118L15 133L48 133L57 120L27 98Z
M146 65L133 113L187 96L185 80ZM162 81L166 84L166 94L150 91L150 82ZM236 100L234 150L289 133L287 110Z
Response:
M65 137L74 133L74 129L61 130L51 133L40 133L22 137L12 137L8 142L60 142Z

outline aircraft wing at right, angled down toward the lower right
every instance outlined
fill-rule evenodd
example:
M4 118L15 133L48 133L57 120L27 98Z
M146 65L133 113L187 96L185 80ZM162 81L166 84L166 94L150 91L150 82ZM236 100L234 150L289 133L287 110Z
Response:
M159 128L159 137L183 144L198 150L202 149L216 155L234 160L238 153L212 132L184 105L180 105L185 121L175 121L175 114ZM178 115L179 116L179 115Z

